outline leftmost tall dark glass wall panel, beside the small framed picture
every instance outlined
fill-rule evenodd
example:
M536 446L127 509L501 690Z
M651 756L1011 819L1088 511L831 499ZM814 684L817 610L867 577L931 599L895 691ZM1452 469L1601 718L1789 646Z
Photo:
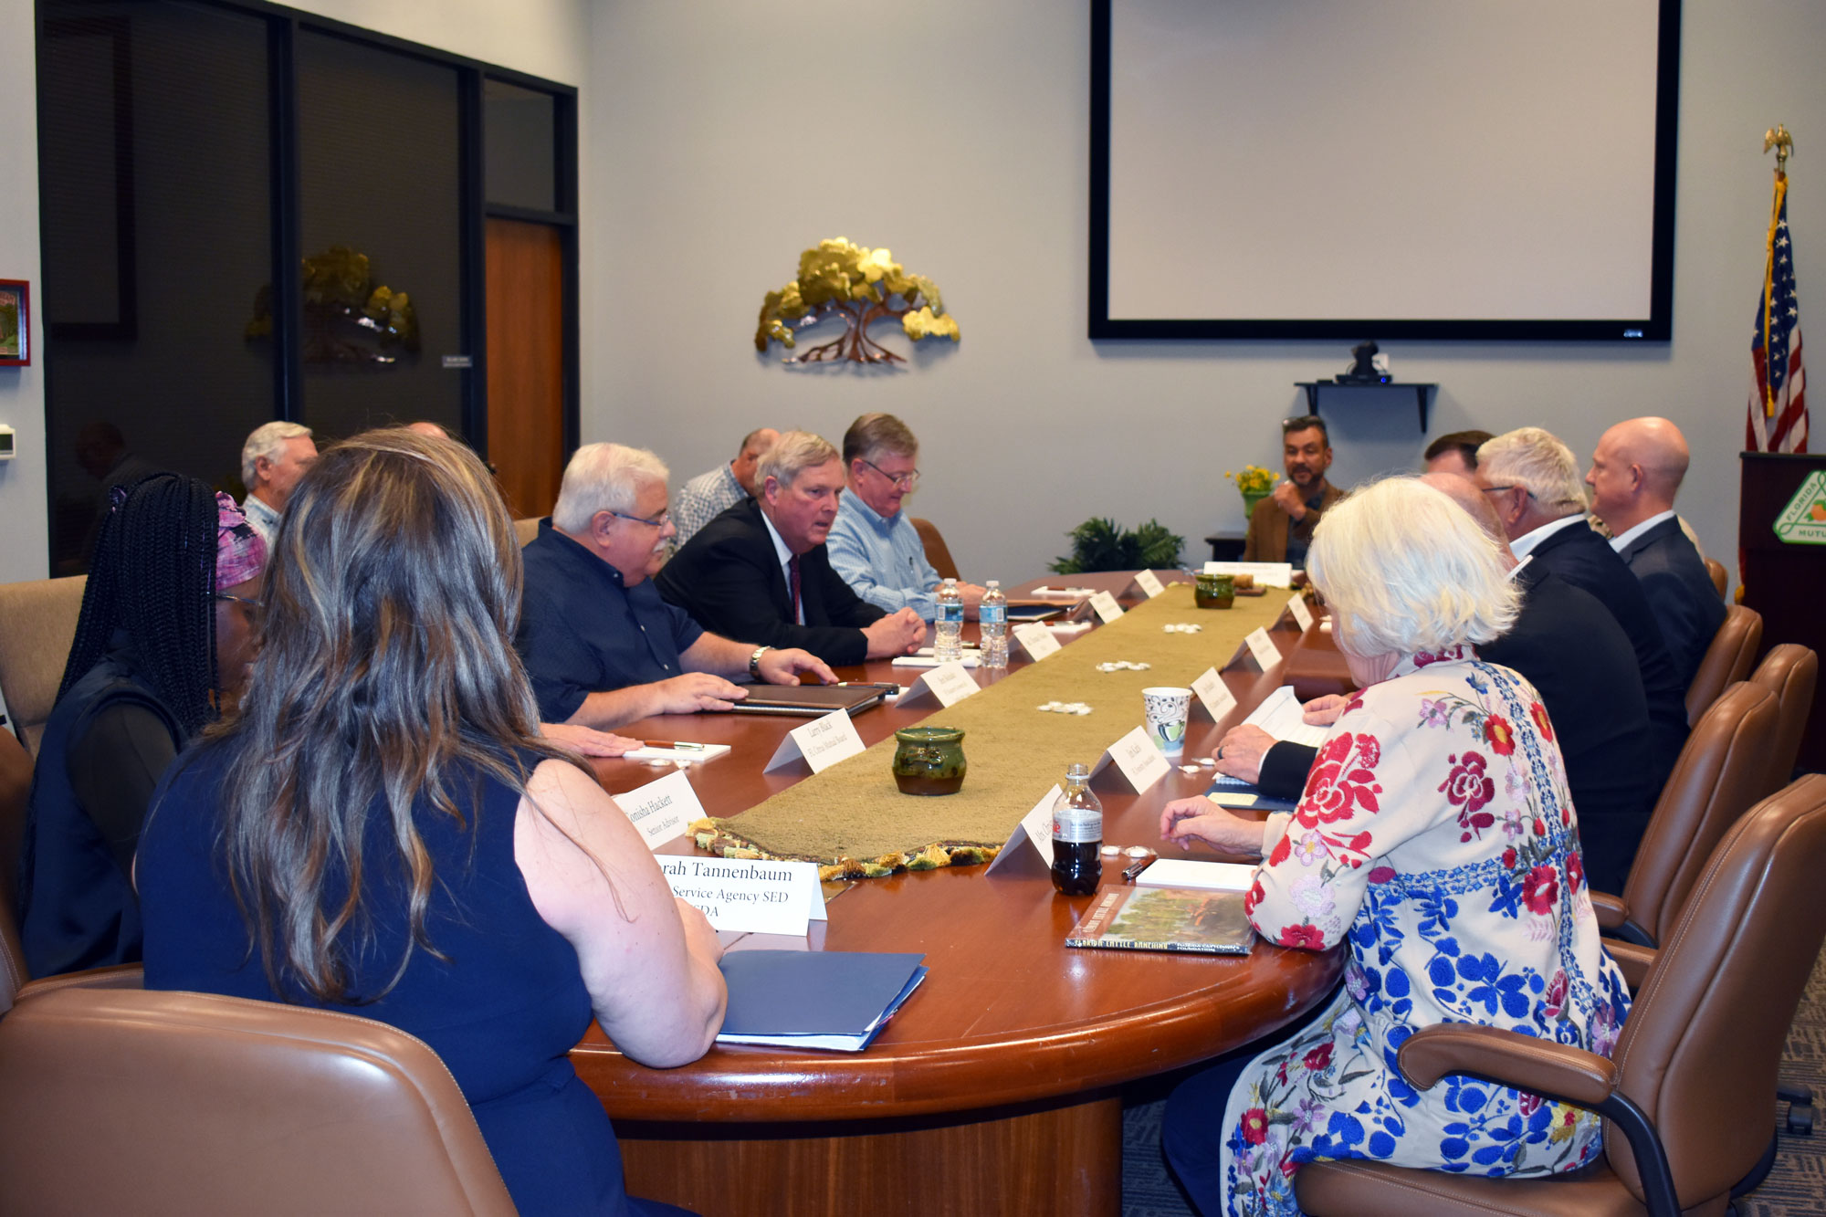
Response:
M274 417L267 29L168 0L40 0L51 568L73 574L110 482L239 488Z

